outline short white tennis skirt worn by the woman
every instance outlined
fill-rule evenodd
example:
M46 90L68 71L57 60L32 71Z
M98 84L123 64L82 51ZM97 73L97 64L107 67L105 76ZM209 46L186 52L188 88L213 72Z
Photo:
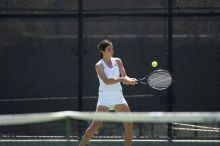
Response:
M107 106L110 110L114 110L116 104L127 103L122 91L118 92L99 92L97 105Z

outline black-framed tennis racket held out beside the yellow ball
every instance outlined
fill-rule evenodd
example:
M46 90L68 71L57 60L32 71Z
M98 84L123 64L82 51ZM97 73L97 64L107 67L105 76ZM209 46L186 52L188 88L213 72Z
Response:
M149 85L156 90L165 90L172 83L172 76L169 71L158 69L138 80L138 83Z

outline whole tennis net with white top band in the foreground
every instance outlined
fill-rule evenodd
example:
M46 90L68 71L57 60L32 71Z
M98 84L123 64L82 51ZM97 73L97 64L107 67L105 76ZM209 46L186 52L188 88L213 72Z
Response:
M128 121L134 123L134 146L151 144L153 141L163 145L167 142L167 135L172 136L173 141L193 141L189 145L194 142L220 144L220 112L62 111L0 115L0 145L78 145L92 120L104 123L89 145L123 145L124 129L121 123ZM168 127L171 127L171 131Z

